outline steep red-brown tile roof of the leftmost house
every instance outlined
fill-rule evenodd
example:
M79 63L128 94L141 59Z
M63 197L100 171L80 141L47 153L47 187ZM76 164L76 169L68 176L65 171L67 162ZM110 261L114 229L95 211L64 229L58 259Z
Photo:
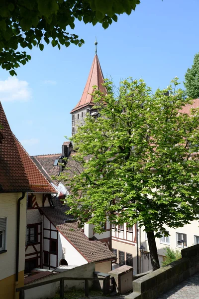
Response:
M0 192L56 193L13 135L0 104Z

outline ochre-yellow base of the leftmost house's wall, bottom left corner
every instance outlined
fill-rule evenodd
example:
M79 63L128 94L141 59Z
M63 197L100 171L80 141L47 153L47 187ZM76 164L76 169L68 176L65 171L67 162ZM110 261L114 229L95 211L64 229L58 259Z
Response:
M23 276L24 271L19 272L19 282L16 288L23 287ZM0 299L18 299L18 297L19 293L15 294L15 275L0 280Z

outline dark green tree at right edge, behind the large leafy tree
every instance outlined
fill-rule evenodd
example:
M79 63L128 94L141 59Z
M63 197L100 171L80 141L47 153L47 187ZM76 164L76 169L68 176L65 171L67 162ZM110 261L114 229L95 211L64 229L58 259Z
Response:
M199 53L194 57L194 64L188 68L185 74L184 85L187 95L193 99L199 98Z

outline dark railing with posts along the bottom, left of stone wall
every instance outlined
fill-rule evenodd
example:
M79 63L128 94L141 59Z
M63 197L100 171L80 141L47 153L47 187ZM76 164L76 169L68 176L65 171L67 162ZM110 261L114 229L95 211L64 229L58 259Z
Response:
M16 292L19 292L19 299L25 299L25 290L29 290L32 288L41 287L44 285L52 284L55 282L60 282L59 285L59 297L60 299L64 299L64 281L65 280L71 280L71 281L85 281L85 296L89 296L89 281L103 281L103 295L109 294L109 280L110 276L105 278L98 278L98 277L61 277L61 278L55 278L46 282L37 283L34 285L27 285L24 287L20 287L16 289Z

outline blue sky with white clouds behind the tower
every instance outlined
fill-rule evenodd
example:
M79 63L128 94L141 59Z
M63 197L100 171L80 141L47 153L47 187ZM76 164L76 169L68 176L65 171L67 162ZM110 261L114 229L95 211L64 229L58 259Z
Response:
M71 136L70 111L80 100L95 55L95 37L104 77L115 85L142 77L153 90L175 76L183 82L199 52L199 0L141 0L130 16L104 30L77 22L85 40L79 48L45 45L27 52L31 61L17 77L0 69L0 100L13 133L30 155L61 152Z

